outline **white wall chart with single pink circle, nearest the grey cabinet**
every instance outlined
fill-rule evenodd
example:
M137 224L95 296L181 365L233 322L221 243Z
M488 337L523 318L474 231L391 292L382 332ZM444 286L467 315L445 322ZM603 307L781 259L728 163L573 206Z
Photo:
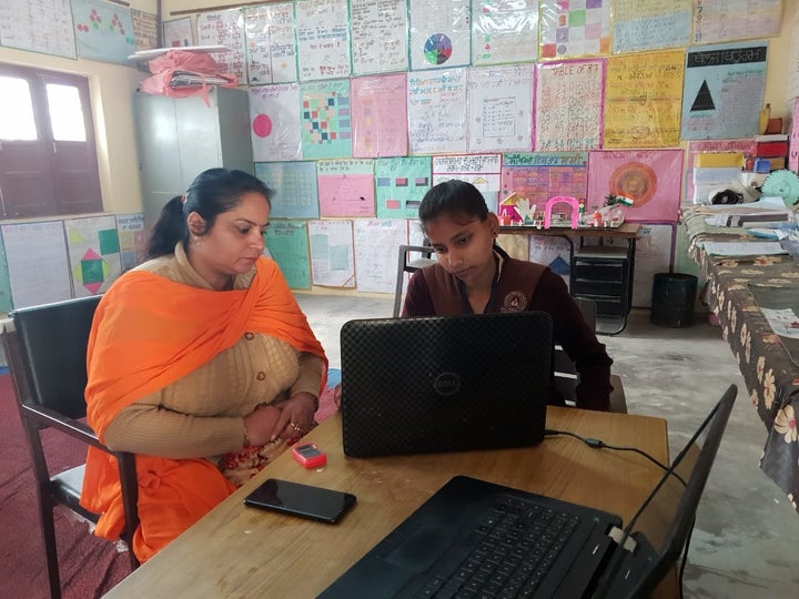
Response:
M302 160L300 84L251 87L250 125L255 162Z

